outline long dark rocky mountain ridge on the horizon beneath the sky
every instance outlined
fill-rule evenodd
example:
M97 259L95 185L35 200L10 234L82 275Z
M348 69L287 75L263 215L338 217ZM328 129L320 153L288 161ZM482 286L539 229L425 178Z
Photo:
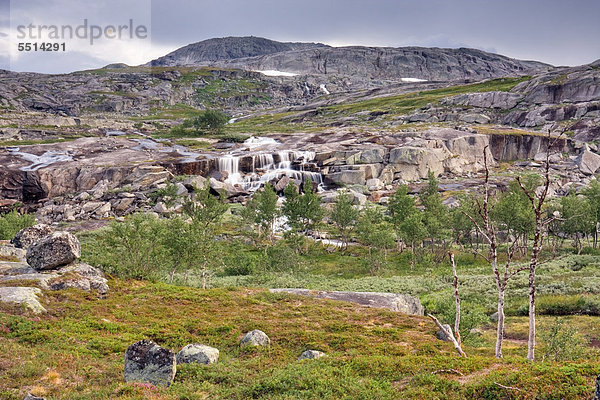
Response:
M152 66L218 66L299 75L342 75L363 80L482 80L533 75L552 67L476 49L331 47L280 43L258 37L209 39L151 61Z

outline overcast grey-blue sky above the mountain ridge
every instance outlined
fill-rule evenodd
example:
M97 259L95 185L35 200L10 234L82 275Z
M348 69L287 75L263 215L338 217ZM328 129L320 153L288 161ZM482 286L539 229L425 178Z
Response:
M10 16L10 17L9 17ZM70 72L145 63L189 43L262 36L334 46L474 47L553 65L600 58L600 0L0 0L0 68ZM147 37L19 52L19 25L126 25Z

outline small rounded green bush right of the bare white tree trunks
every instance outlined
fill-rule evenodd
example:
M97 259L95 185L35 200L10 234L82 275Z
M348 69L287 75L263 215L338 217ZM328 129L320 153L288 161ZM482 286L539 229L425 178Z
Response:
M585 340L562 318L541 330L540 340L545 360L574 361L586 353Z

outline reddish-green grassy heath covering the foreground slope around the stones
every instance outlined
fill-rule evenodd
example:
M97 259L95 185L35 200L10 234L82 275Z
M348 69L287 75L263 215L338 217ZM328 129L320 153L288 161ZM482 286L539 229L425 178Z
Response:
M600 367L528 363L522 346L466 346L435 339L426 318L256 289L200 290L111 279L106 298L46 292L48 313L0 312L0 398L51 399L588 399ZM240 349L265 331L270 348ZM150 338L178 351L219 348L219 362L178 369L170 388L123 382L123 354ZM298 363L305 349L327 357ZM500 387L517 387L510 390Z

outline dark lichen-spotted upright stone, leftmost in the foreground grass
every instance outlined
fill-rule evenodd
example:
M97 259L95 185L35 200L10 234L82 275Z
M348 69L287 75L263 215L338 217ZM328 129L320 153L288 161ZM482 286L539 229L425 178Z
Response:
M141 340L125 352L125 382L169 386L175 378L175 354L151 340Z

